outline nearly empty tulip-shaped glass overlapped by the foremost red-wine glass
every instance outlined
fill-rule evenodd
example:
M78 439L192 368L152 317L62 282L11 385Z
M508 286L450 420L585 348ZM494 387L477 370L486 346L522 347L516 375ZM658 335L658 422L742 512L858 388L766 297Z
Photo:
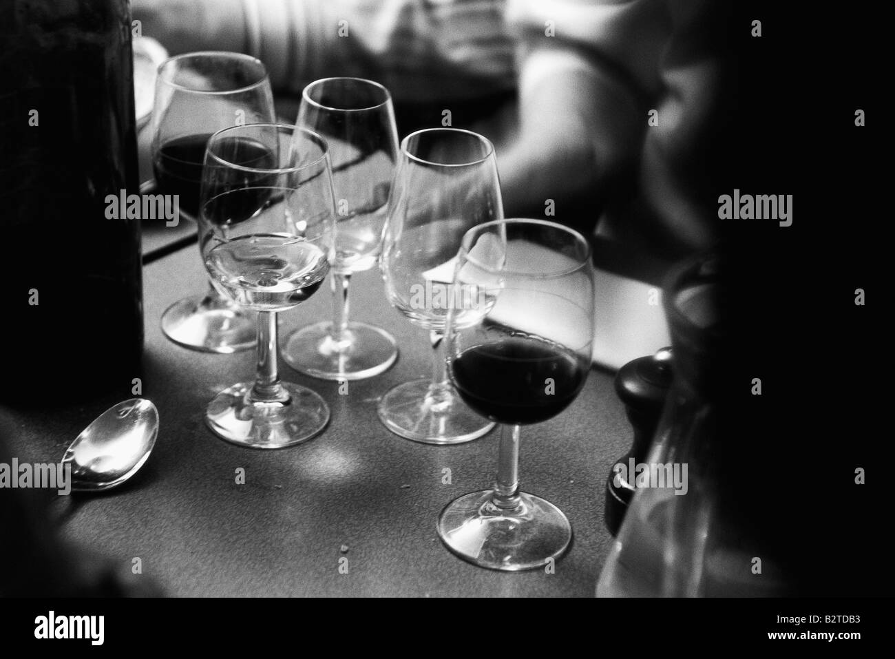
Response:
M388 302L429 330L435 364L430 380L390 389L378 411L390 431L409 440L456 444L494 427L457 398L447 380L442 339L455 302L451 281L463 235L499 218L503 202L490 141L456 128L405 137L388 202L380 267Z

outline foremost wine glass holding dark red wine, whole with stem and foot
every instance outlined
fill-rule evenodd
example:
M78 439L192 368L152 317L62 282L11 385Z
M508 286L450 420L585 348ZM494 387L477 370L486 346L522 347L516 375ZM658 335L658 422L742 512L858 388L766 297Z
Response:
M550 501L519 491L519 428L558 415L584 387L593 338L590 245L552 222L489 222L464 236L455 284L469 304L448 315L450 380L470 407L504 425L493 489L447 504L439 536L485 568L537 568L566 551L572 526Z

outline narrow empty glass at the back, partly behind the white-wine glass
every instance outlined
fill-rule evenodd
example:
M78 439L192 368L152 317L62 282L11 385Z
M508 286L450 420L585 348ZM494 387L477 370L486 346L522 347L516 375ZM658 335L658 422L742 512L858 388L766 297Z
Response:
M336 193L336 249L330 262L333 321L296 329L283 358L325 380L362 380L395 363L395 339L384 329L348 321L354 272L379 259L388 191L397 159L395 111L388 90L361 78L326 78L304 88L296 124L327 141Z

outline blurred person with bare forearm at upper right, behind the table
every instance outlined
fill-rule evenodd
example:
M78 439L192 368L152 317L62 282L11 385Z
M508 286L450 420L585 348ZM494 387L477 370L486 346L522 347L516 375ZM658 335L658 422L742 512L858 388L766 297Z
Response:
M507 216L544 213L671 260L717 237L729 3L508 0L519 133L498 145ZM651 112L654 111L654 112Z

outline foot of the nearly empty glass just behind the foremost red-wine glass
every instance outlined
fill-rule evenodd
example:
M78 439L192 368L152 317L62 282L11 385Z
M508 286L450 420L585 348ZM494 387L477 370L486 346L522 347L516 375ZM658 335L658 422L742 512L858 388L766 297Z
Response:
M495 425L466 407L453 390L433 392L429 380L389 389L377 411L388 430L424 444L462 444L482 437Z

